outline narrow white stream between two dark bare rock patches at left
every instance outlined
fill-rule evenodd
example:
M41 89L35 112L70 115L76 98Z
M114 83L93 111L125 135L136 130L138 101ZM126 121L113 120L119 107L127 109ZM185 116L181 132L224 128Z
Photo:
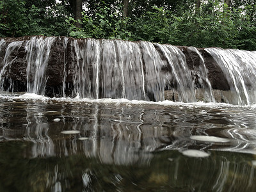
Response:
M27 92L44 95L47 81L46 69L54 37L34 36L26 42Z

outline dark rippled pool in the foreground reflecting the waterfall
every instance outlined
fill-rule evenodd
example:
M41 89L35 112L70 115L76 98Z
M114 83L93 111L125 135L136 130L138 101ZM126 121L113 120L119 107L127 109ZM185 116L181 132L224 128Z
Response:
M0 191L256 190L249 106L2 97L0 107Z

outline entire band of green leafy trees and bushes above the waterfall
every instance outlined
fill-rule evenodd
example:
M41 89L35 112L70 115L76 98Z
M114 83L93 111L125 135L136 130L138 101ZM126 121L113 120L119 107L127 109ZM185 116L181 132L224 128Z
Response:
M221 0L201 1L199 9L195 0L131 0L128 17L122 17L122 0L88 0L77 21L70 2L0 1L0 36L65 35L256 50L252 0L232 0L230 7Z

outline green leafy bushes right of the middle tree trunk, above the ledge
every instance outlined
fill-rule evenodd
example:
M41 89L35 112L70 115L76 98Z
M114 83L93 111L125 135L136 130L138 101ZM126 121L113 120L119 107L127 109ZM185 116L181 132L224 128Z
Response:
M134 38L161 44L256 50L255 5L227 8L218 1L180 13L154 7L132 23ZM246 14L244 14L247 12Z

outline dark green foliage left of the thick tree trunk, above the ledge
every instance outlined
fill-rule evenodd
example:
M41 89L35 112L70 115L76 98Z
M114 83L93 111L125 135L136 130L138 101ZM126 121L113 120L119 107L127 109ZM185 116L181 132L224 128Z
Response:
M54 3L37 7L28 6L29 3L31 1L0 1L1 36L67 35L64 6Z

